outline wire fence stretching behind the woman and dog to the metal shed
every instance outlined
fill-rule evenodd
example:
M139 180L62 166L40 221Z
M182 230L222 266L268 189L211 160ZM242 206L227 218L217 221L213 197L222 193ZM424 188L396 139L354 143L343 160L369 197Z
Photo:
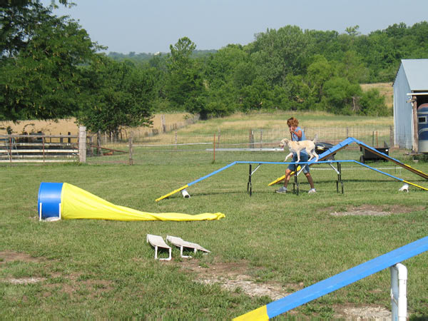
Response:
M347 126L331 128L327 126L303 128L307 139L317 136L317 141L336 145L347 137L354 137L375 148L392 147L394 144L394 130L392 126ZM129 137L132 136L130 140ZM187 131L167 131L157 135L139 135L131 131L127 134L128 141L103 144L103 148L111 148L109 153L101 156L115 156L113 158L97 158L90 160L93 163L156 163L171 161L175 152L188 152L189 163L199 161L213 161L215 157L233 158L238 154L225 156L226 152L248 151L280 151L278 143L282 138L289 138L287 129L244 129L237 131L217 131L216 133L189 133ZM350 149L359 149L350 146ZM122 152L119 153L117 152ZM215 153L217 151L217 153ZM225 153L222 153L225 152ZM129 156L128 156L129 153ZM213 156L213 153L215 154ZM221 153L221 154L220 154ZM100 156L100 153L88 153ZM229 153L232 154L232 153ZM167 155L167 156L165 156ZM240 154L240 158L248 159L253 156ZM254 156L255 157L255 156ZM259 156L260 157L260 156ZM263 156L264 157L264 156Z

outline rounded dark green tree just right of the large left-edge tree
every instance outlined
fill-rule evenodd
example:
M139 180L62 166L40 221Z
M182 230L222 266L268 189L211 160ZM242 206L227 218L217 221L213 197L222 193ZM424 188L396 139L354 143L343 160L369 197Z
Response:
M123 126L150 126L154 94L153 76L130 61L99 56L86 69L85 103L78 123L90 131L107 131L113 137Z

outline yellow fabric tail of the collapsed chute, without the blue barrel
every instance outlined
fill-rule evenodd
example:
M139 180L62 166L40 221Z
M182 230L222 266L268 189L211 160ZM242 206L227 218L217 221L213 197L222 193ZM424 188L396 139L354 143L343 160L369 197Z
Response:
M147 213L98 198L86 190L63 183L61 190L61 218L71 220L90 218L93 220L220 220L223 213L202 213L189 215L183 213Z

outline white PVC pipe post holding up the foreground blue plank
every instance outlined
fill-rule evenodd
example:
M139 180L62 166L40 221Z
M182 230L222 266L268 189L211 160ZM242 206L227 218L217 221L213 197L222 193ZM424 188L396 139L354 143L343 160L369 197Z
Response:
M391 271L392 321L407 320L407 267L401 263L389 267Z

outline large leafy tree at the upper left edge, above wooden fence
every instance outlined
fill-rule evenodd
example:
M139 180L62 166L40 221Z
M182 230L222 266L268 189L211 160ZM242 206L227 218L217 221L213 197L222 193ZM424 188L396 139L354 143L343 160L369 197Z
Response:
M84 29L41 4L2 8L0 119L72 116L81 105L81 66L101 49Z

